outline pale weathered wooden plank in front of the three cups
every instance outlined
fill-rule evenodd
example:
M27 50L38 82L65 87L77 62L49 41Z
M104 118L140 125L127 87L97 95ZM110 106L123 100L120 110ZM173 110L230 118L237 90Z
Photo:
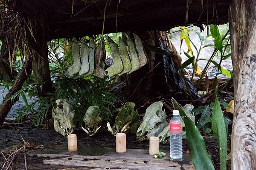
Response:
M154 159L148 155L148 150L128 149L126 153L107 153L104 155L70 155L72 153L40 153L35 154L38 158L45 157L44 164L78 166L90 168L110 168L110 169L128 169L128 170L194 170L191 161L188 161L190 155L185 154L183 162L169 161L169 152L161 159ZM33 155L33 154L32 154ZM31 155L31 156L32 156ZM49 159L50 158L50 159Z

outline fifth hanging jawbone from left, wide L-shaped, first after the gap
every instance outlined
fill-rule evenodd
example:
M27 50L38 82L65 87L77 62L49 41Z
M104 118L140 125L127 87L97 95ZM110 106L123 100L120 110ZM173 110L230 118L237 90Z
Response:
M108 40L108 45L110 46L112 57L113 57L113 65L111 65L109 68L106 69L106 73L108 77L112 77L114 75L121 73L121 71L123 70L123 64L122 64L122 60L121 60L116 42L111 40L109 36L107 36L107 40Z

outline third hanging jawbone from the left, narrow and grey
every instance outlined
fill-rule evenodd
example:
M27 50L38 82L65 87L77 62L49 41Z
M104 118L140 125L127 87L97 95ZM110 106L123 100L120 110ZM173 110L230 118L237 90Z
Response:
M95 57L94 53L95 53L95 48L96 48L96 44L95 44L93 38L90 37L89 49L88 49L90 69L87 72L87 74L85 74L84 76L90 76L91 74L93 74L93 71L94 71L94 57Z

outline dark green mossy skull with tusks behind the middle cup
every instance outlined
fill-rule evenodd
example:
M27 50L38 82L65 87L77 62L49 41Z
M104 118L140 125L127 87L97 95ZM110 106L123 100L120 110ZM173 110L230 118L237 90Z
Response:
M131 133L135 134L138 128L138 112L134 111L135 103L127 102L117 113L115 123L111 128L110 123L107 123L108 131L115 135L116 133Z

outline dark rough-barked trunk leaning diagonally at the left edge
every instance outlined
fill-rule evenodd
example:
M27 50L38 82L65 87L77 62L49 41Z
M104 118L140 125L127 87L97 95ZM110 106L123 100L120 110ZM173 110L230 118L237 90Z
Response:
M20 70L12 88L9 90L8 94L6 94L3 103L0 105L0 125L3 124L4 119L12 108L12 105L14 105L14 103L16 102L16 100L14 102L11 102L10 97L22 88L23 83L30 76L31 71L32 61L31 58L28 57L26 59L24 67Z

